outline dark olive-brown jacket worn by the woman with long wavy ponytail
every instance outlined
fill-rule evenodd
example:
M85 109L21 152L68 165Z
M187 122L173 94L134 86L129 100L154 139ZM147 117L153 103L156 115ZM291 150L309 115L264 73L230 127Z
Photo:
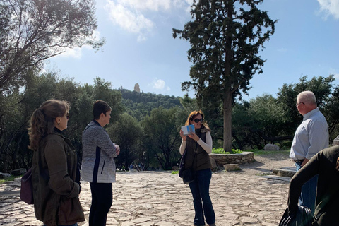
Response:
M32 184L37 220L45 225L72 225L84 221L75 182L76 150L58 129L40 142L33 153Z

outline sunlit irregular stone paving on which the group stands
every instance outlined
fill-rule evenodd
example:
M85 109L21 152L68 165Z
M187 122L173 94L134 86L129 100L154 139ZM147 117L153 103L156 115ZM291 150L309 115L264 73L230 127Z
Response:
M287 207L290 178L256 176L244 172L213 173L210 196L216 225L278 225ZM0 192L19 190L20 180L0 184ZM88 220L90 186L83 182L81 204ZM107 225L193 225L189 186L170 172L118 172ZM14 196L0 196L0 225L42 225L32 206ZM88 226L88 222L79 222Z

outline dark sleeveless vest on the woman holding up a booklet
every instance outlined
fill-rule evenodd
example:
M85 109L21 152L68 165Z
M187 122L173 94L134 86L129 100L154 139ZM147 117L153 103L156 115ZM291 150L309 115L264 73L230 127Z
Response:
M209 129L201 126L201 129L196 129L196 135L198 135L203 142L206 143L206 132ZM186 136L186 160L185 160L185 169L192 168L194 170L210 169L212 165L210 164L210 155L206 153L206 150L203 150L201 145L198 145L194 139ZM194 155L194 153L196 153ZM193 162L193 164L192 164Z

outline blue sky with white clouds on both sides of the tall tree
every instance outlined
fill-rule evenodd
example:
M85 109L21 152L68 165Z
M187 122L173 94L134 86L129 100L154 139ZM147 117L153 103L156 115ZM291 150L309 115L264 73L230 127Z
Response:
M181 83L189 81L189 42L172 37L191 20L192 0L97 0L97 37L105 37L102 51L69 49L47 61L45 69L59 71L81 85L95 77L112 88L182 97ZM339 0L264 0L275 34L261 52L263 73L254 75L245 100L263 93L276 96L284 83L301 76L335 75L339 84ZM194 91L189 95L193 97Z

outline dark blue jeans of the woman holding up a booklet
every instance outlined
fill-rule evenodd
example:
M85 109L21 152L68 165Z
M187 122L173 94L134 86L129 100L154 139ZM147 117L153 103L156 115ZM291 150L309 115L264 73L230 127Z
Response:
M194 216L194 225L212 225L215 223L215 213L210 201L210 179L212 171L203 169L194 172L194 181L189 183L189 188L193 196L193 204L196 215Z

